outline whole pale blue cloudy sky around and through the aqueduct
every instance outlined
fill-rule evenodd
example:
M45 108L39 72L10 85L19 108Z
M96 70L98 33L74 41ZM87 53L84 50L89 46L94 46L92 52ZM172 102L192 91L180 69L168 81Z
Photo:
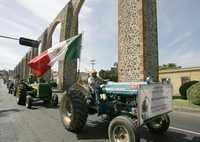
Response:
M37 39L68 0L0 0L0 35ZM158 0L159 64L200 66L200 1ZM79 16L84 32L81 68L108 69L117 61L117 0L86 0ZM60 26L53 34L59 42ZM0 39L0 70L13 69L28 47ZM55 68L55 67L54 67ZM57 67L56 67L57 68Z

